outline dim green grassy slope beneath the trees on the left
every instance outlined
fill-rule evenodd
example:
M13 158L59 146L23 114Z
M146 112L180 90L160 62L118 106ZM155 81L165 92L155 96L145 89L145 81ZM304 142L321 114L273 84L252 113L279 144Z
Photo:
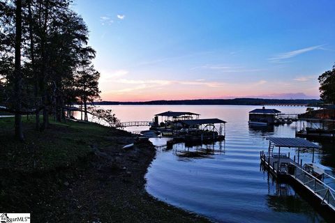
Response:
M92 147L105 146L111 129L90 123L53 123L44 132L34 130L32 118L24 118L24 142L13 139L14 118L0 118L0 169L31 173L68 167L86 157ZM94 137L91 133L94 132ZM110 142L109 142L110 143Z

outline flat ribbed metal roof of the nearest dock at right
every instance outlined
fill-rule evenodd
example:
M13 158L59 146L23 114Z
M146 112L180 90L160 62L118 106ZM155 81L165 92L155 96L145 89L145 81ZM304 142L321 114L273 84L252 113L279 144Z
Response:
M267 139L278 147L319 148L318 145L313 144L311 141L301 138L267 137Z

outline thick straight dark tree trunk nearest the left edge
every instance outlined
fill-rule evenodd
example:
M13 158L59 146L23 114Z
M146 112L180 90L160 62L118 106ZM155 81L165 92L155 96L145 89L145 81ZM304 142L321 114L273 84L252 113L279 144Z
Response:
M22 73L21 73L21 41L22 41L22 1L16 0L15 10L15 138L23 141L23 129L22 129Z

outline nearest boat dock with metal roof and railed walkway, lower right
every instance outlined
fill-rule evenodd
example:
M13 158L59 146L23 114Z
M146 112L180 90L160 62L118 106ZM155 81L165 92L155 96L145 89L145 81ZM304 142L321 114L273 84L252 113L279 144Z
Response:
M289 183L297 185L300 192L308 194L319 206L327 207L335 213L335 190L329 183L323 182L325 177L331 178L333 182L335 178L313 169L314 150L319 146L299 138L268 137L267 139L269 139L268 152L260 152L260 160L265 169L278 180L288 180ZM278 153L274 153L276 147ZM288 155L281 153L281 148L298 148L297 159L294 156L292 160L290 153ZM302 160L299 160L301 148L313 149L312 164L302 166Z

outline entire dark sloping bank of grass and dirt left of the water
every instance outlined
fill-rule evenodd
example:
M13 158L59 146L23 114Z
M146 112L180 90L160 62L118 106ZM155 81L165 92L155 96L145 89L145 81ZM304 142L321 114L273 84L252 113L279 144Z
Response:
M128 132L73 121L37 132L24 118L24 135L14 141L13 118L0 118L1 211L33 222L207 222L145 192L156 151Z

